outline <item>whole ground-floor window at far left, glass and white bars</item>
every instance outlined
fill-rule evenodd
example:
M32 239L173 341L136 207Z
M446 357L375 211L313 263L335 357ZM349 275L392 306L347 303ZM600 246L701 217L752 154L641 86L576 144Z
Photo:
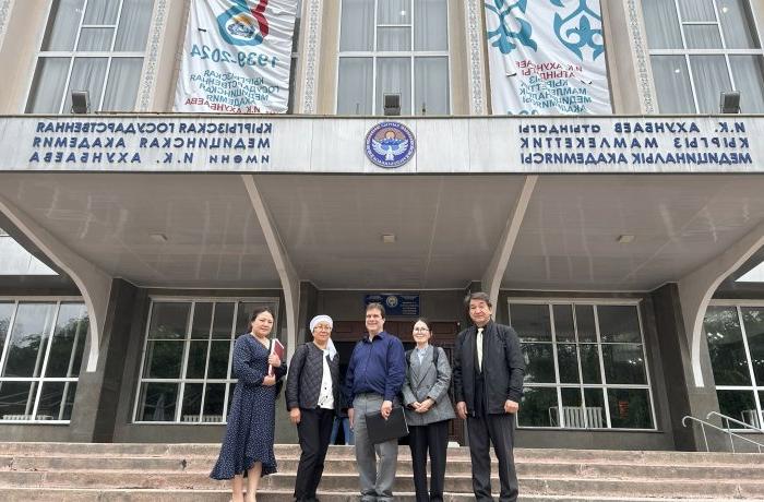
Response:
M67 423L87 338L81 301L0 299L0 420Z

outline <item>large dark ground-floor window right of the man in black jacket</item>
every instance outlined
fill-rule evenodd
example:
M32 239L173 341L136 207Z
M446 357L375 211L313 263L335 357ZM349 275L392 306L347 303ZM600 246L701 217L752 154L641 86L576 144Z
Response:
M511 300L525 358L520 427L655 429L636 304Z

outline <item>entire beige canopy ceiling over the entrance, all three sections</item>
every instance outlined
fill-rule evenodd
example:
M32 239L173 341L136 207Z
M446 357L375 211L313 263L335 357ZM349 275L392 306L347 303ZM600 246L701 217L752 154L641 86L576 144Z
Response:
M523 181L255 176L299 278L370 290L479 280ZM764 176L541 176L502 287L633 291L678 280L764 220L762 193ZM0 174L0 195L136 285L280 287L238 175Z

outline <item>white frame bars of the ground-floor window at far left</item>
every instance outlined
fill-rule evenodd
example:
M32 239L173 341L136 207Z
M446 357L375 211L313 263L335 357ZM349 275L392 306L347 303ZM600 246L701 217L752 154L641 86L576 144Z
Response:
M3 419L2 416L0 416L0 425L45 425L45 426L68 426L71 423L71 419L69 420L63 420L63 419L50 419L50 420L40 420L37 417L37 411L39 409L39 402L40 397L43 395L43 389L46 383L51 383L51 382L63 382L64 385L64 392L67 389L69 389L69 384L74 383L79 384L80 382L80 372L77 372L77 376L46 376L46 372L48 369L48 362L50 360L50 350L52 347L52 337L56 334L56 326L58 323L58 318L61 313L61 306L63 303L82 303L83 307L86 309L85 301L82 297L77 296L23 296L23 297L16 297L16 296L0 296L0 302L3 303L13 303L13 313L11 314L11 319L8 325L8 333L5 333L5 339L2 343L2 347L0 347L0 373L4 371L5 368L5 362L8 358L8 351L10 350L10 339L11 339L11 333L13 331L13 327L15 325L15 319L19 313L19 306L22 303L55 303L56 304L56 311L53 313L51 323L50 323L50 328L45 333L45 340L46 340L46 347L45 347L45 355L43 357L43 366L40 368L40 375L39 376L2 376L0 375L0 383L2 382L31 382L34 384L37 384L37 387L29 392L34 392L34 405L32 408L32 414L31 416L34 418L31 419ZM85 340L83 342L83 347L91 343L91 330L88 327L87 332L85 333ZM84 348L83 348L84 350ZM71 355L70 355L71 357ZM83 351L83 360L84 358L87 357L87 355ZM71 361L70 361L71 362ZM76 391L75 391L76 392ZM74 396L76 398L76 394ZM28 397L27 397L28 399ZM73 403L73 401L72 401ZM61 405L59 405L61 406ZM63 408L60 407L59 414L63 411Z

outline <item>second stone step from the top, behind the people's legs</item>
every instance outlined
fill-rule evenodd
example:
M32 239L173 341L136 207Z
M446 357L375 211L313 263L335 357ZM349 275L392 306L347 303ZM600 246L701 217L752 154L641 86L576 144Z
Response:
M178 458L169 456L0 456L0 477L3 470L13 471L51 471L51 470L100 470L100 471L152 471L188 473L205 476L212 469L215 457L194 456ZM299 458L290 456L278 458L278 470L295 474ZM496 470L496 461L493 462ZM574 462L518 462L517 474L527 477L580 476L584 478L654 478L654 479L755 479L764 475L764 469L756 466L718 466L718 465L632 465L612 463L574 463ZM341 458L329 456L325 471L353 473L355 458L343 455ZM398 459L397 473L411 474L410 457ZM471 463L468 458L449 458L449 475L468 475Z

